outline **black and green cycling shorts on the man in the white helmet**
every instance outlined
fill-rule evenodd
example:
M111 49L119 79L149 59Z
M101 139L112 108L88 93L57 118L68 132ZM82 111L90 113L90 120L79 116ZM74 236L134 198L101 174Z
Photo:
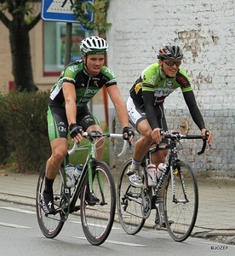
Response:
M49 106L47 119L50 142L59 137L67 138L66 108ZM77 110L77 125L82 126L83 131L86 131L90 125L100 125L100 121L93 113L89 112L88 107L84 107Z

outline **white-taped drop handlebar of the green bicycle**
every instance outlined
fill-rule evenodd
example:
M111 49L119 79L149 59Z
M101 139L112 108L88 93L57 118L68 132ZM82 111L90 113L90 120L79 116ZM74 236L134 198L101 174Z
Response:
M121 133L101 133L100 131L91 131L91 132L83 132L83 137L89 137L90 141L93 141L95 137L113 137L113 138L122 138L123 134ZM79 143L74 143L73 147L68 150L68 154L73 154L76 152L79 147ZM123 157L126 154L127 148L129 147L129 141L123 140L123 149L121 153L118 154L118 157Z

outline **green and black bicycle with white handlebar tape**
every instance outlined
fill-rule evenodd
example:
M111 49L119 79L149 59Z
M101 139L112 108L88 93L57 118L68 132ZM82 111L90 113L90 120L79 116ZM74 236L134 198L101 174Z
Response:
M44 236L54 238L60 233L69 213L80 210L84 235L91 244L100 245L106 241L112 230L116 209L116 189L109 166L103 161L96 160L95 143L99 138L123 138L123 134L91 131L84 132L83 137L89 140L87 144L74 143L73 148L68 150L68 156L77 153L77 160L81 151L86 151L83 172L73 187L68 186L66 183L67 157L62 162L60 172L53 183L54 214L43 212L42 194L46 163L44 164L37 182L37 222Z

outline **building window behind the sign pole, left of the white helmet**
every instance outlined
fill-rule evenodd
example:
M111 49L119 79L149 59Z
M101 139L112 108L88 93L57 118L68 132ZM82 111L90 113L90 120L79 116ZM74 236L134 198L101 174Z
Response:
M65 64L66 22L44 21L44 76L59 75ZM80 44L89 32L72 23L71 61L81 59Z

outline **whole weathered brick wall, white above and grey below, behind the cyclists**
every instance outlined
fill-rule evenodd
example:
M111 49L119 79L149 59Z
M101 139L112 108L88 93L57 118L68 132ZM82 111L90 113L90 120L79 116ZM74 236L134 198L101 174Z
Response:
M108 10L108 22L112 22L107 33L108 64L117 75L125 100L142 69L157 61L161 44L175 42L183 48L181 67L192 79L198 106L207 128L214 131L215 141L203 156L196 155L200 148L197 142L184 143L180 155L196 172L210 176L235 177L234 13L232 0L118 0L111 1ZM169 130L179 130L184 120L190 133L198 133L181 90L168 97L164 108ZM110 127L115 120L120 131L112 107L110 113ZM114 153L112 165L120 166L118 161Z

